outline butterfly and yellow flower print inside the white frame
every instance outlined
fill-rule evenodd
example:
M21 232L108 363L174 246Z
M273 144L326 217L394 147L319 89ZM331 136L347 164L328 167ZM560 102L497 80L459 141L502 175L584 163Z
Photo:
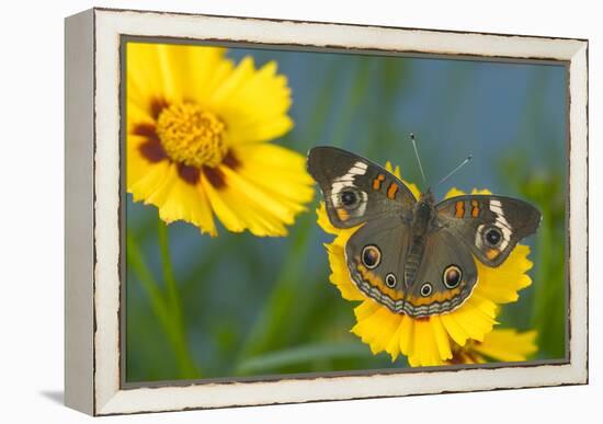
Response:
M125 382L567 359L567 82L125 41Z

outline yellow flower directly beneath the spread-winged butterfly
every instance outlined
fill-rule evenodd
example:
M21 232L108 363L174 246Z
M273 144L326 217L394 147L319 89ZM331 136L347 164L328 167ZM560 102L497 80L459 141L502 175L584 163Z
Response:
M394 171L388 162L386 169L400 177L400 170ZM405 184L418 198L420 193L414 184ZM489 194L476 191L474 194ZM451 190L447 197L463 192ZM325 204L317 210L318 224L326 232L334 234L332 243L327 244L331 265L330 280L346 300L362 301L354 309L356 325L352 332L371 346L373 354L387 352L395 360L398 355L408 357L411 366L442 365L453 358L455 345L465 346L469 341L483 342L497 324L497 305L517 300L517 291L532 284L526 271L532 267L527 260L530 248L517 244L509 257L498 267L488 267L476 260L479 282L470 297L454 311L412 318L391 312L375 300L367 298L351 280L345 264L344 247L359 227L338 229L329 222Z

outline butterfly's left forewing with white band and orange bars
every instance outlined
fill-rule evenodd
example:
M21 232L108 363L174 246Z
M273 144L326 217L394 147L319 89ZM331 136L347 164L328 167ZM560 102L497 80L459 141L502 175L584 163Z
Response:
M351 228L382 216L410 219L414 196L382 167L349 151L315 147L308 153L308 171L318 182L327 214L338 228Z

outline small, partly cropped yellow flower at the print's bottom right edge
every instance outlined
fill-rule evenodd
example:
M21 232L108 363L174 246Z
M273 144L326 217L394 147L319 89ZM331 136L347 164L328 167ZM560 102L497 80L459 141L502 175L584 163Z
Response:
M536 331L517 333L514 329L494 329L483 342L468 341L465 346L454 345L453 357L445 364L485 364L493 362L522 362L537 351Z

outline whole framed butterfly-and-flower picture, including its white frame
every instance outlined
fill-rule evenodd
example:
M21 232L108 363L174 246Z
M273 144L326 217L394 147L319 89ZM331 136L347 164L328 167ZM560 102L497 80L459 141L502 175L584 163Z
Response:
M588 382L588 42L66 20L66 403Z

